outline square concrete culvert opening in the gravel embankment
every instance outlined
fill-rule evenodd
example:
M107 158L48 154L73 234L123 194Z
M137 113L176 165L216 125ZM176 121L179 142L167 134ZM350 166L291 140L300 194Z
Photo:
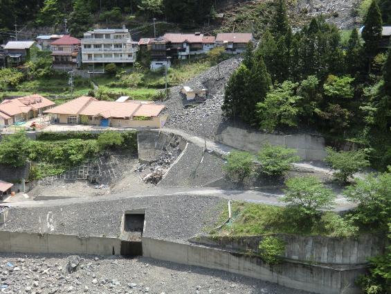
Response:
M122 216L121 255L136 257L143 255L141 239L145 226L145 209L125 211Z

